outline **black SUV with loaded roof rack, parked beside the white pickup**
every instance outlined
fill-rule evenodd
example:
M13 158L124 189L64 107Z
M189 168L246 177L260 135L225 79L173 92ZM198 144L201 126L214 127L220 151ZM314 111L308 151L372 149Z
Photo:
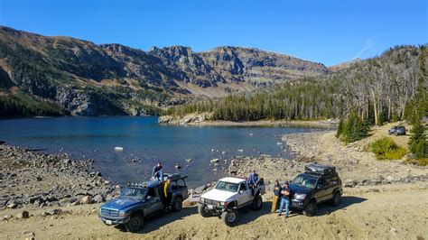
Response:
M321 202L330 201L332 205L339 206L343 189L336 168L309 164L304 169L305 172L290 184L290 208L302 211L306 216L314 216Z

